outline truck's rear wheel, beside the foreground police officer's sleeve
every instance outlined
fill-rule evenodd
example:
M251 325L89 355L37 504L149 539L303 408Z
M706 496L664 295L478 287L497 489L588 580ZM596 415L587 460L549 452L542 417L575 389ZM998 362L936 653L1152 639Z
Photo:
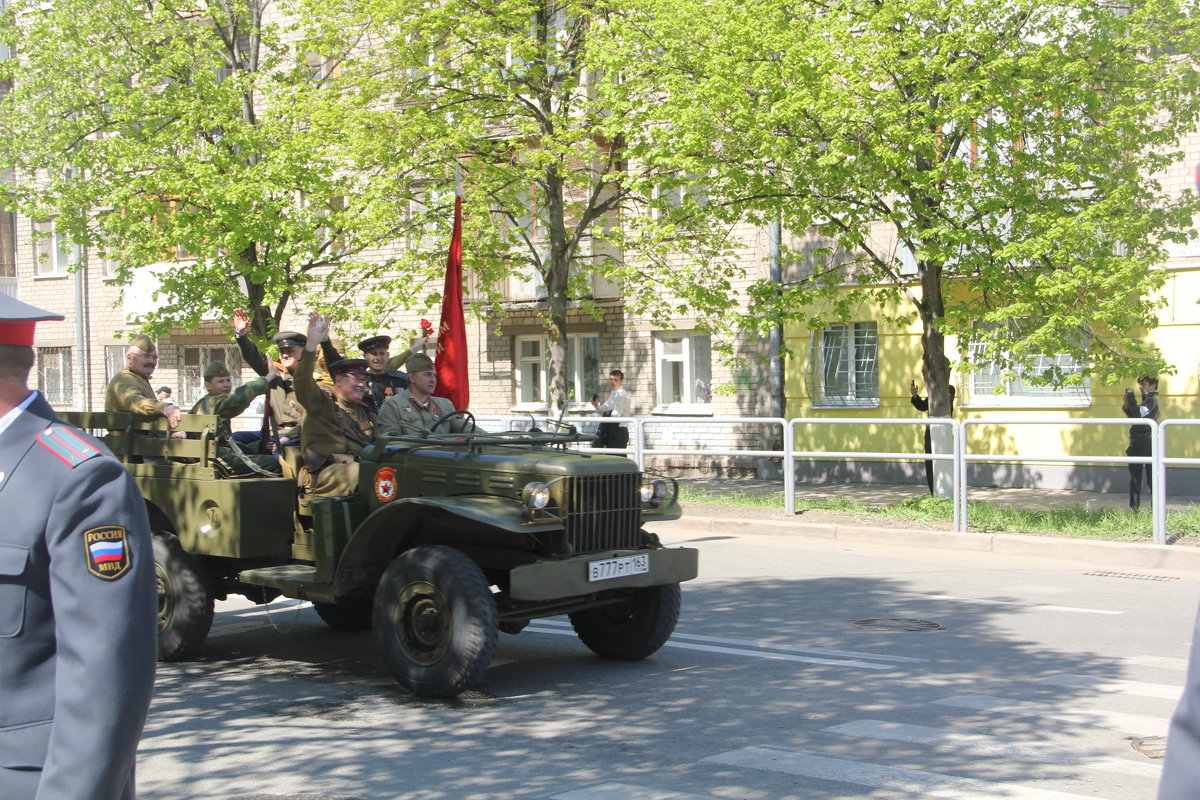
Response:
M158 584L158 660L188 661L200 654L212 627L212 595L179 537L154 535L154 572Z

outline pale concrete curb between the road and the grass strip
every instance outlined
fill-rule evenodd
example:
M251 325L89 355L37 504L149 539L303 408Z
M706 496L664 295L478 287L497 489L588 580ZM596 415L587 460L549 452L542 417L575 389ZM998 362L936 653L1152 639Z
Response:
M661 528L660 528L661 525ZM869 528L830 525L785 519L737 519L728 517L684 516L676 522L652 523L661 533L694 530L701 534L790 534L865 545L938 547L942 549L1037 555L1087 564L1138 570L1174 570L1200 572L1200 548L1140 542L1093 542L1084 539L1058 539L1025 534L971 534L919 528Z

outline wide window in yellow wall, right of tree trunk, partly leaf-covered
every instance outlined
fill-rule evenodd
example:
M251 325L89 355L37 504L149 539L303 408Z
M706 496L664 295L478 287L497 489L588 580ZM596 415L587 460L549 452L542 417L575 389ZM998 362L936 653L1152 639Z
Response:
M1092 403L1091 381L1086 375L1078 384L1064 386L1033 383L1052 369L1062 377L1081 374L1085 365L1067 353L1034 355L1028 365L1014 366L1008 377L1004 366L989 360L984 343L971 342L968 354L971 363L977 365L968 373L971 405L1080 408Z

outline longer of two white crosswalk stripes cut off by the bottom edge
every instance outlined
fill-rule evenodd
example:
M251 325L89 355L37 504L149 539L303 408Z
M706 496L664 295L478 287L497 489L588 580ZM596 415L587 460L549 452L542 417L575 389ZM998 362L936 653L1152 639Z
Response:
M899 766L881 766L841 758L794 753L774 747L745 747L709 756L702 760L822 781L853 783L872 789L907 792L914 796L938 798L940 800L998 800L1001 798L1006 800L1096 800L1093 796L1016 783L980 781Z

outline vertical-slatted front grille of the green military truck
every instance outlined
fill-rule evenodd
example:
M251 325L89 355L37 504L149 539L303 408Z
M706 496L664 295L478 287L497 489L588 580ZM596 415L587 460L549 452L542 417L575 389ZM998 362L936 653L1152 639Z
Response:
M637 473L587 475L566 481L566 536L576 553L640 545Z

